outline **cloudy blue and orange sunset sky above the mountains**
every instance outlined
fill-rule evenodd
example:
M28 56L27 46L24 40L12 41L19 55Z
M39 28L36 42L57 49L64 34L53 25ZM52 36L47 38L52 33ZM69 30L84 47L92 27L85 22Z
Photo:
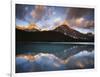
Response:
M94 33L94 9L16 4L16 26L36 24L41 30L53 30L64 22L82 33Z

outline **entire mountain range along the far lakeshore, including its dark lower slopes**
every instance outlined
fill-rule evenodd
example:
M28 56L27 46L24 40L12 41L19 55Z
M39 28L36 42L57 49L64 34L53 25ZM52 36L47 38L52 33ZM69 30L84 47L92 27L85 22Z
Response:
M83 34L67 25L60 25L54 30L40 31L38 28L16 28L16 41L32 42L93 42L92 33Z

